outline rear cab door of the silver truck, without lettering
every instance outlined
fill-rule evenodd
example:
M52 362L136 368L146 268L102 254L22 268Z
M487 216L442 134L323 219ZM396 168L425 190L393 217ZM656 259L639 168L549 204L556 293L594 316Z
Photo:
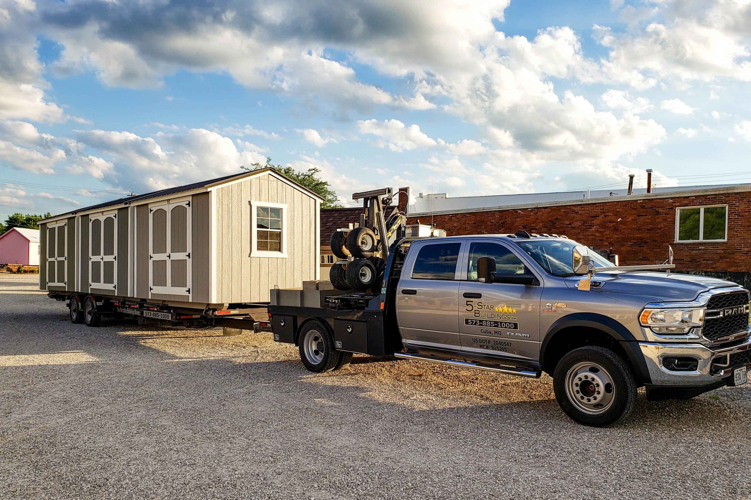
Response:
M397 287L397 320L409 346L459 351L459 256L463 241L418 241Z

